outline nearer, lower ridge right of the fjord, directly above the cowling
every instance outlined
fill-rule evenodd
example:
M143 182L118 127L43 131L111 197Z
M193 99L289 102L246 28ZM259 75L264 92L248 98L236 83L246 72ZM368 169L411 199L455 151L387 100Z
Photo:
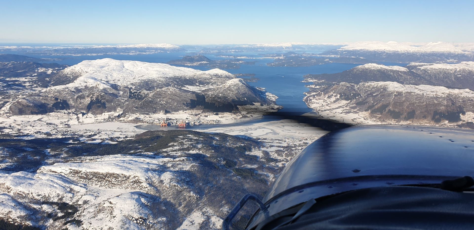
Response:
M312 86L304 101L325 117L362 124L462 125L473 121L474 91L392 81Z

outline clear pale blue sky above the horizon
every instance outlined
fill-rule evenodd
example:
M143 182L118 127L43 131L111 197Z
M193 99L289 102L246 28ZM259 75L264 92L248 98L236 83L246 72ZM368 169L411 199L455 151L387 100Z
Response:
M474 1L0 0L0 42L474 42Z

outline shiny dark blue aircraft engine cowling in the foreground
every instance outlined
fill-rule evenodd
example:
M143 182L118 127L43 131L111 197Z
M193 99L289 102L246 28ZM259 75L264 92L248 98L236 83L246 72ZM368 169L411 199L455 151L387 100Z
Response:
M359 188L440 183L463 176L474 176L473 130L356 126L329 133L295 156L265 195L265 215ZM255 216L249 227L263 216Z

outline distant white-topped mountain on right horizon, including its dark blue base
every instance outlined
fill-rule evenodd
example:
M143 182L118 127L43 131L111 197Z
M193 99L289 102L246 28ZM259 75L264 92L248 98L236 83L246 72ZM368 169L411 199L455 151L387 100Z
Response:
M323 56L365 58L373 62L462 62L474 61L474 53L446 42L414 46L397 42L356 42L321 53Z

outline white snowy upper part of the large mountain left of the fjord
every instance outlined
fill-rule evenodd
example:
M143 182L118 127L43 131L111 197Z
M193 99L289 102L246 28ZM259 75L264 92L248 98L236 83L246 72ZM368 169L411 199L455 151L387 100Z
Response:
M227 71L212 69L200 71L176 67L164 63L120 61L110 58L82 61L62 71L63 74L79 74L74 82L48 89L73 88L85 86L109 87L111 84L130 85L144 80L165 82L172 78L202 79L212 77L235 78Z

